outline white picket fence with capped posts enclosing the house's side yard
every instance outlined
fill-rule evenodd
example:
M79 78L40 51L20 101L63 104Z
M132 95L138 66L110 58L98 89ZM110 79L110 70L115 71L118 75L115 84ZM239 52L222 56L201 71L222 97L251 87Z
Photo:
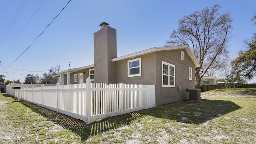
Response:
M19 100L85 120L98 120L156 106L155 85L84 84L44 86L14 90Z

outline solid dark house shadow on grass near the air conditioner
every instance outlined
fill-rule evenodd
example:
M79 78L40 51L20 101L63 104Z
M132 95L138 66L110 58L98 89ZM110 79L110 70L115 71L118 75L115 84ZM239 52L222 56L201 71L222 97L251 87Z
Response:
M177 102L158 106L149 115L182 123L202 124L240 108L231 101L202 99L202 102ZM140 114L144 115L149 111L144 110Z

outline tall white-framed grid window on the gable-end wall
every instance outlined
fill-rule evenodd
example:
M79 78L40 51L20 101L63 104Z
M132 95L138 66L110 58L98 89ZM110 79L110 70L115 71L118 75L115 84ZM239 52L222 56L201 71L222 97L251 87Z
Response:
M162 86L175 87L175 65L162 61Z

